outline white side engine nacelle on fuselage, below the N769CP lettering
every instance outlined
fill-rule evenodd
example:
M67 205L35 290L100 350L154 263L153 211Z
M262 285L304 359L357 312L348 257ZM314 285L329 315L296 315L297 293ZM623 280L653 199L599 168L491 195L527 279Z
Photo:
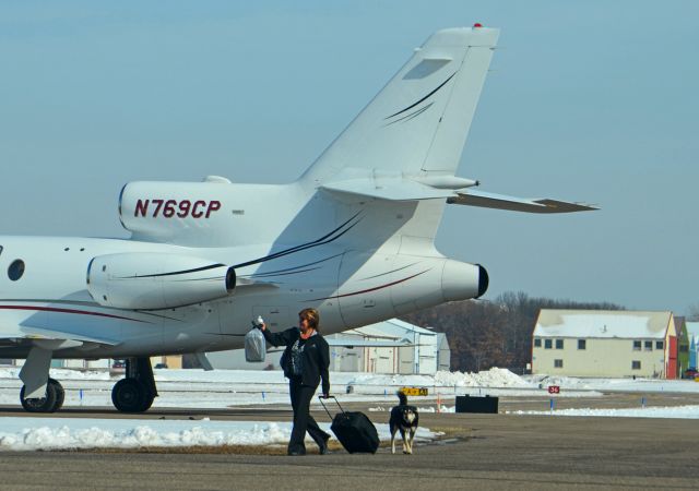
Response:
M119 309L190 306L226 297L235 286L233 267L182 254L98 255L87 266L90 295L100 306Z

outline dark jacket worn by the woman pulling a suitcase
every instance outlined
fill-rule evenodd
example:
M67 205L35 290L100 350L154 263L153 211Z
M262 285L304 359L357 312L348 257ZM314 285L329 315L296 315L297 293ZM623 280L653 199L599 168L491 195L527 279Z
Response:
M292 327L281 333L271 333L269 328L262 331L264 338L273 346L286 346L284 355L282 355L282 369L287 379L293 376L291 371L292 346L301 336L298 327ZM317 387L322 380L323 394L330 394L330 378L328 375L328 367L330 367L330 347L328 342L320 335L316 334L304 342L304 351L301 358L301 376L303 385Z

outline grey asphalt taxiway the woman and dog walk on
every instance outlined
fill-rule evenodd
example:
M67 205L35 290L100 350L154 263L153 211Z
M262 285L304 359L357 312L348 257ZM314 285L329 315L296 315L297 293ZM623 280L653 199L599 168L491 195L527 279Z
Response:
M665 396L685 399L685 395ZM616 400L624 403L625 397ZM3 408L0 424L1 417L15 415L26 416L14 408ZM319 420L328 420L324 414L316 415ZM108 408L69 409L57 416L122 417ZM377 422L388 417L376 412L370 416ZM147 418L202 417L284 420L291 415L283 408L264 407L217 411L156 409L147 414ZM420 424L445 431L448 436L417 446L414 455L391 455L386 447L376 455L350 455L334 450L324 456L304 457L261 455L254 450L242 454L3 452L0 487L405 490L698 486L697 453L692 450L699 436L696 420L424 412Z

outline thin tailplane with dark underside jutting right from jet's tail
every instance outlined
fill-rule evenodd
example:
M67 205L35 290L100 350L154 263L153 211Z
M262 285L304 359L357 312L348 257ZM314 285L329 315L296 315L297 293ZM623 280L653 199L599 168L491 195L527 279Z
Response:
M583 203L569 203L566 201L549 200L545 197L514 197L475 190L469 190L467 193L460 192L457 194L458 196L455 197L449 197L447 203L526 213L572 213L599 209Z

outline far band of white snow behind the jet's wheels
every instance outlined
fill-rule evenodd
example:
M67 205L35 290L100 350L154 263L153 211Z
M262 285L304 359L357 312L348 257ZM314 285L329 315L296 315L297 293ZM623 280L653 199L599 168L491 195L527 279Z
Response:
M0 404L16 405L22 386L19 368L0 368ZM66 388L67 407L110 407L111 387L123 373L52 369L51 376ZM288 404L288 385L281 371L251 370L155 370L159 397L155 408ZM392 405L402 386L427 387L427 402L455 395L505 397L548 396L549 385L559 385L556 397L596 397L605 392L699 392L692 381L656 379L576 379L546 375L518 376L503 369L479 373L437 372L433 375L393 375L332 372L331 392L342 402L376 402ZM318 405L317 400L313 404Z

